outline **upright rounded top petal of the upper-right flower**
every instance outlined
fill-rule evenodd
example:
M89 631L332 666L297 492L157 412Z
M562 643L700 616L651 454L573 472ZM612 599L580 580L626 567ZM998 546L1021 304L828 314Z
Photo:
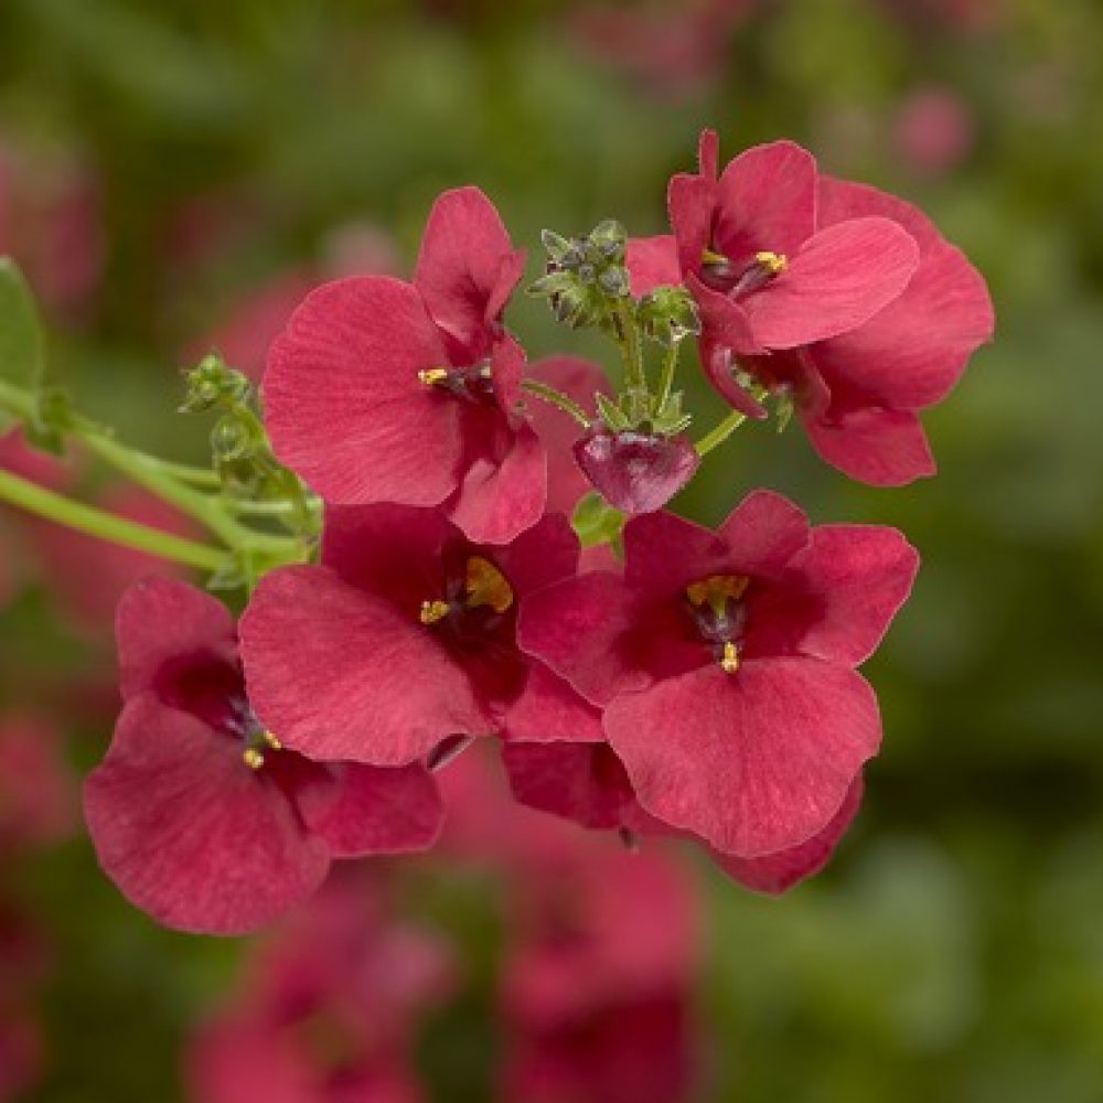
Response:
M720 174L717 206L713 244L732 263L793 257L816 228L815 158L791 141L754 146Z

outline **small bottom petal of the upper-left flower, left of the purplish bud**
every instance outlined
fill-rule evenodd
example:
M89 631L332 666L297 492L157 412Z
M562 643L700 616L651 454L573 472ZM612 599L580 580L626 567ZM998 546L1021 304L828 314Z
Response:
M507 430L503 430L505 432ZM510 433L499 462L476 459L448 503L449 515L478 544L507 544L535 524L547 497L547 456L535 430Z

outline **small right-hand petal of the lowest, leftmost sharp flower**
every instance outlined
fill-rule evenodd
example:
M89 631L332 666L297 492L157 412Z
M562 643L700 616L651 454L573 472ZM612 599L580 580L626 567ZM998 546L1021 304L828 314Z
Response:
M338 763L302 775L293 794L307 826L334 858L425 850L445 816L437 783L421 765Z

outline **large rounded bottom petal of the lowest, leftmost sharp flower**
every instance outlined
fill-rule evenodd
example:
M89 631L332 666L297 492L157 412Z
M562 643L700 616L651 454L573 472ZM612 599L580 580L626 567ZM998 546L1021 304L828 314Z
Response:
M242 745L143 695L130 700L85 816L99 864L136 907L183 931L243 934L304 900L329 869Z

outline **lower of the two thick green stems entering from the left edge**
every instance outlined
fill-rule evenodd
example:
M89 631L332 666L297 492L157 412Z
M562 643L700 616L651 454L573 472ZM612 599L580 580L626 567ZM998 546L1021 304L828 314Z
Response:
M87 533L89 536L98 536L100 539L111 540L139 552L149 552L162 559L172 559L189 567L215 571L225 567L228 561L226 554L218 548L171 536L169 533L116 516L114 513L97 510L95 506L74 502L2 470L0 470L0 500L40 517L67 525L77 532Z

